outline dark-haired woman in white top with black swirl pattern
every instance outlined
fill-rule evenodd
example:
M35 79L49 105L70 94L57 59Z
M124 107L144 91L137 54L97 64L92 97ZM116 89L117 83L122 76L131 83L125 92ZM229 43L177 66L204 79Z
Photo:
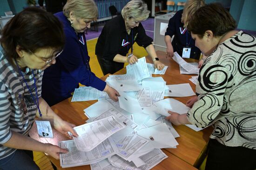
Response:
M187 114L169 112L175 125L213 125L205 170L256 169L256 37L236 31L220 4L199 8L188 30L208 57L200 69L197 97Z

